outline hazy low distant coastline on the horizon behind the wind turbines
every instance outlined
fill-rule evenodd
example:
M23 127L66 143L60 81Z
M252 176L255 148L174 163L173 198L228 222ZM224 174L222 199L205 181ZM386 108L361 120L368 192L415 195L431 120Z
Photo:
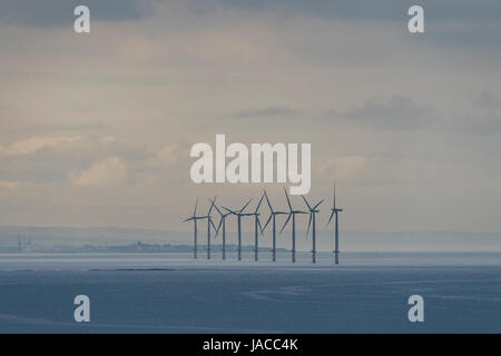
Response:
M236 248L236 233L227 230L227 248ZM318 250L333 250L333 231L317 231ZM311 250L306 231L297 230L297 249ZM469 231L352 231L343 230L341 251L376 253L497 253L501 251L500 233ZM271 235L259 237L259 249L269 250ZM198 236L200 251L206 236ZM220 236L213 239L213 246L220 250ZM254 250L254 231L245 226L243 246L245 251ZM277 237L278 249L291 248L289 234ZM191 253L193 231L127 228L127 227L32 227L0 226L0 253Z

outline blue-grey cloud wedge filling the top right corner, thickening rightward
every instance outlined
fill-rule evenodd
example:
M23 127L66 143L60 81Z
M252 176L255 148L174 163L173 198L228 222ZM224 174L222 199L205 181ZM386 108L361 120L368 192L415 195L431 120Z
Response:
M191 3L207 2L196 0ZM501 1L498 0L213 0L214 8L228 7L272 11L278 16L311 16L342 21L392 22L406 29L407 10L419 4L424 9L425 31L413 40L451 47L501 49ZM207 7L207 4L206 4ZM412 36L406 31L403 32Z

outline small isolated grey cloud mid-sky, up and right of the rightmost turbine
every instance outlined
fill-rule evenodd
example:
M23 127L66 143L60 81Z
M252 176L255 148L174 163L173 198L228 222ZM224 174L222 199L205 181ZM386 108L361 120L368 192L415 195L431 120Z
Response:
M413 99L395 95L371 98L362 106L341 112L331 110L327 117L380 129L412 129L429 126L430 112L430 108L418 105Z

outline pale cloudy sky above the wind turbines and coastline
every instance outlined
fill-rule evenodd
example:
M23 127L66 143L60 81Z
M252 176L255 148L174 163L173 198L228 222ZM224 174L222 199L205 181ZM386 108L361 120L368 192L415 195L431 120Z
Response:
M90 33L73 31L78 4ZM411 4L425 33L407 31ZM3 0L0 225L189 230L197 197L237 207L263 188L285 209L278 184L190 180L190 147L225 134L311 144L307 198L326 198L326 220L336 178L343 229L499 233L500 13L488 0Z

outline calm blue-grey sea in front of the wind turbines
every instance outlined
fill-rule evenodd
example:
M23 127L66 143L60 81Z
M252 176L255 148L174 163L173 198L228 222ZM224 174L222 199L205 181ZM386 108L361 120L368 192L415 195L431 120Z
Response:
M0 254L0 333L499 334L501 253Z

